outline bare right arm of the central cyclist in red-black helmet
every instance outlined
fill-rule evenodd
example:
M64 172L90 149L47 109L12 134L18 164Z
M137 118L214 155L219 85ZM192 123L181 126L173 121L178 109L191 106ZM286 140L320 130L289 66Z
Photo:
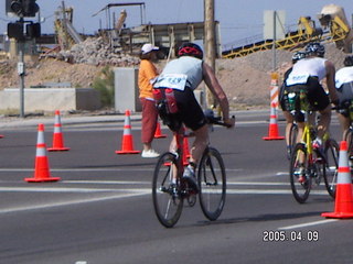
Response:
M203 63L203 79L206 82L208 89L213 94L213 96L220 102L220 107L223 113L223 120L225 123L229 125L234 125L234 119L229 119L229 103L227 96L225 95L224 90L222 89L213 69L206 64Z

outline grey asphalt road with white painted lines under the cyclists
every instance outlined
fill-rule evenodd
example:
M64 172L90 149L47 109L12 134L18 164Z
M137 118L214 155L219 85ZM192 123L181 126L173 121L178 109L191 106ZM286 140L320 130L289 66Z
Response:
M215 222L196 205L173 229L151 199L156 160L117 155L121 122L63 125L68 152L47 153L55 183L30 184L36 128L7 127L0 139L0 263L351 263L352 220L329 220L323 185L304 205L291 196L284 141L264 141L267 113L238 113L235 130L211 135L227 168L227 200ZM284 122L279 121L280 133ZM45 142L51 146L52 127ZM171 134L154 141L168 148ZM332 131L339 134L333 121ZM140 123L132 122L136 148ZM284 241L278 241L284 238Z

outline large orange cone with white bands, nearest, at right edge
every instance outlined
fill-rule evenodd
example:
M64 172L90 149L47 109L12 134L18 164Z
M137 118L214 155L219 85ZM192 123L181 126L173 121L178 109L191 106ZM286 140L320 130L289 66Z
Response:
M352 178L346 145L346 141L341 141L334 212L321 213L325 218L353 218Z

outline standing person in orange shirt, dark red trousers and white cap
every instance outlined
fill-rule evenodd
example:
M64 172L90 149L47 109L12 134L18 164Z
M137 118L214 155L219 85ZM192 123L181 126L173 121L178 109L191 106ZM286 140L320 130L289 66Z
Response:
M139 92L142 106L142 131L141 142L143 144L142 157L158 157L159 153L152 148L154 138L158 111L153 99L153 87L151 81L158 76L158 70L153 63L157 62L157 52L159 47L147 43L140 52L140 68L139 68Z

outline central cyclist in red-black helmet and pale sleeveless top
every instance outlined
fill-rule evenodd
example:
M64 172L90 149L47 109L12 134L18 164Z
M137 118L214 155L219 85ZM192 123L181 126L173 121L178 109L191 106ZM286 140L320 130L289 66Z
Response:
M199 45L194 43L182 44L178 50L178 58L165 65L153 85L157 88L154 89L156 94L162 92L167 100L169 100L168 98L174 100L174 103L171 101L167 103L169 112L165 112L165 108L161 107L161 105L158 106L160 117L164 123L174 132L179 131L182 123L184 123L195 134L195 141L190 151L191 157L183 178L196 191L199 188L194 170L208 144L206 119L193 92L202 80L205 81L213 96L217 99L224 122L229 127L235 123L235 119L229 118L229 105L224 90L213 69L202 59L203 51ZM174 148L174 145L175 142L172 142L171 148Z

